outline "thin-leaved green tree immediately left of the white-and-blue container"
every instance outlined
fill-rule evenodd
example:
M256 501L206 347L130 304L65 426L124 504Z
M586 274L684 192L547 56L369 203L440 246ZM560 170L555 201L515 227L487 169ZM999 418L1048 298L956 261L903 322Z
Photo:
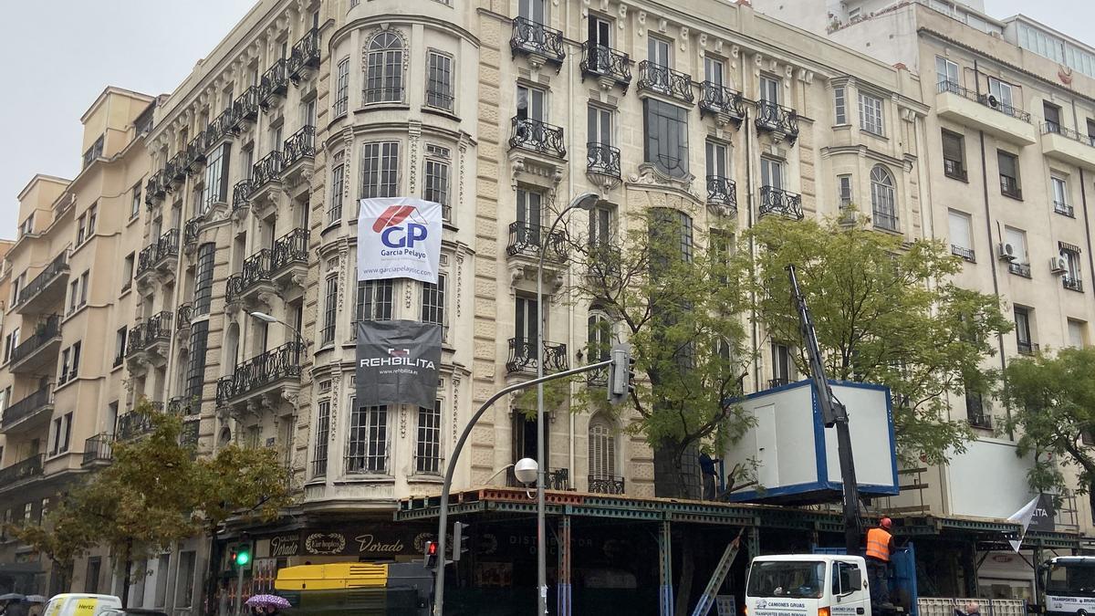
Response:
M741 393L748 361L738 318L744 296L727 284L730 230L694 235L681 209L650 208L630 219L615 237L566 239L579 272L566 293L604 312L613 338L632 345L639 378L627 407L637 421L627 430L654 448L655 493L699 498L698 445L736 438L750 423L729 402ZM590 361L606 351L591 345ZM589 406L604 408L603 390L589 393Z

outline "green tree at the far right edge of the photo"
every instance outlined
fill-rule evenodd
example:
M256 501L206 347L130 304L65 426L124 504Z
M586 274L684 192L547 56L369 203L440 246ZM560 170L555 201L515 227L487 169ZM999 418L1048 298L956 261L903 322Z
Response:
M1016 453L1034 454L1027 472L1030 487L1067 494L1062 469L1075 467L1075 491L1087 494L1095 507L1095 458L1082 442L1095 434L1095 347L1017 357L1005 368L1004 383L1012 407L1006 429L1021 434Z

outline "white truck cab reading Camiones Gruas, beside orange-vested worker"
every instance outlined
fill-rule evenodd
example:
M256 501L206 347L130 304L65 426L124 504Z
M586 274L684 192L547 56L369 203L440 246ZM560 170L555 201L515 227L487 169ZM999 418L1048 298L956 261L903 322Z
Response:
M858 556L758 556L746 583L749 616L871 616L867 566Z

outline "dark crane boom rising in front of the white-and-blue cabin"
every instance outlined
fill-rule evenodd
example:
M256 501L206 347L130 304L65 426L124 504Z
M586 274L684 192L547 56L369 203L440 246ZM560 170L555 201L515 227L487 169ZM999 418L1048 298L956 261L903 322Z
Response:
M795 308L798 310L798 327L803 344L806 346L806 354L810 363L810 384L821 409L821 420L826 427L837 429L837 456L840 458L840 479L843 483L844 547L848 549L848 554L857 554L862 536L858 515L860 495L858 484L855 482L855 461L852 458L852 435L848 430L848 409L833 396L829 379L826 377L825 364L821 362L821 350L818 347L818 335L814 329L814 318L810 317L810 309L806 306L806 297L798 287L798 277L795 275L794 265L787 265L787 274L791 277L791 293Z

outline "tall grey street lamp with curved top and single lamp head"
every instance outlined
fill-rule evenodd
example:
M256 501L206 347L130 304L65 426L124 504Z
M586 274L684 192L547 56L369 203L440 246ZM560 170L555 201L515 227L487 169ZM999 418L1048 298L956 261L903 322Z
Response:
M537 378L544 376L544 256L555 226L572 209L592 209L600 196L597 193L581 193L558 213L548 229L540 236L540 263L537 265ZM541 228L542 229L542 228ZM548 614L548 558L544 529L544 386L537 385L537 614Z

